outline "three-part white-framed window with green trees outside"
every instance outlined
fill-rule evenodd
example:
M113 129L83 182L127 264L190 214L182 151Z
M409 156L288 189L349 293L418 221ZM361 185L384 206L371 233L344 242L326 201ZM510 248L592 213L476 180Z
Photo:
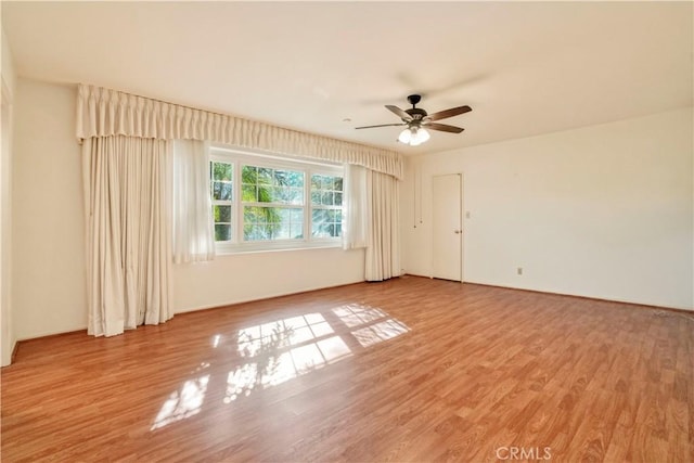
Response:
M343 170L214 147L210 193L221 252L338 245Z

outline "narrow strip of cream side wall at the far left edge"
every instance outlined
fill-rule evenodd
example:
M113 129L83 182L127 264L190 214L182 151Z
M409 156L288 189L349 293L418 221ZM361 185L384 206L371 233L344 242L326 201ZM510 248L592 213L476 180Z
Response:
M15 72L12 51L2 30L2 155L0 160L0 365L9 365L15 345L12 321L12 132Z

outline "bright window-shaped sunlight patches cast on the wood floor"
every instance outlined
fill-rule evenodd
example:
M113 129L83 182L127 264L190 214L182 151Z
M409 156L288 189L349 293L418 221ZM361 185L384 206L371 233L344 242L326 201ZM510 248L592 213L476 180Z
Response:
M342 335L336 334L340 326ZM345 332L347 329L347 333ZM234 337L211 337L213 348L226 343L235 347L241 361L227 374L223 403L248 397L400 336L410 329L384 310L348 304L325 313L311 312L239 330ZM351 347L350 347L351 346ZM200 374L210 364L203 362ZM210 375L189 380L164 402L151 430L200 413Z

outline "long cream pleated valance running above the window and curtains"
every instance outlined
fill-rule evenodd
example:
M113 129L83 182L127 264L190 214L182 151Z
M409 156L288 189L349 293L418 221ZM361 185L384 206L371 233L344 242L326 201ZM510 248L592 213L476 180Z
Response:
M159 140L207 140L273 153L364 166L402 179L395 151L284 129L269 124L79 85L77 138L129 136Z

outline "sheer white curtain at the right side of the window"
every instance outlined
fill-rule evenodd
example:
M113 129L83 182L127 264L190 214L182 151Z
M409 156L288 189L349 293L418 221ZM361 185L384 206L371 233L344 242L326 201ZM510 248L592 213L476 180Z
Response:
M343 203L345 226L343 227L343 248L367 247L369 203L367 202L367 169L354 164L345 164Z

